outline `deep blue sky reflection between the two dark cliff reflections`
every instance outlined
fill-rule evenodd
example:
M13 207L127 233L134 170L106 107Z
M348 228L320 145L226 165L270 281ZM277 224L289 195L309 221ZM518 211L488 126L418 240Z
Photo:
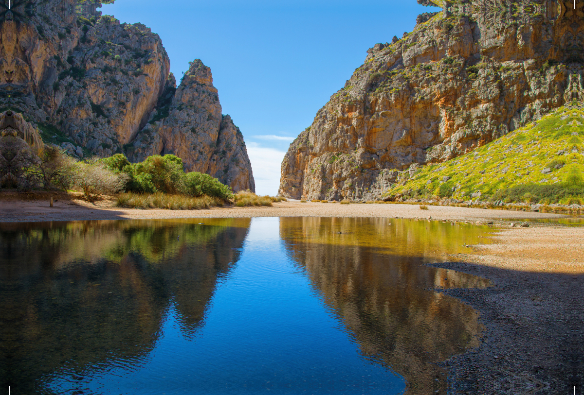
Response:
M81 383L65 367L48 387L64 394L401 393L404 380L359 354L286 256L279 227L278 218L252 220L241 258L218 281L193 337L183 336L171 306L139 366L92 366Z

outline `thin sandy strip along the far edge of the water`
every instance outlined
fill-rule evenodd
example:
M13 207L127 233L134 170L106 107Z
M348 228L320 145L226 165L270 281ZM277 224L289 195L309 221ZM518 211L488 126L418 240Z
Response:
M564 218L561 214L428 206L420 210L410 204L274 203L273 207L214 207L207 210L139 210L113 207L112 200L95 204L84 200L0 200L0 222L158 219L217 217L384 217L437 220L523 220Z

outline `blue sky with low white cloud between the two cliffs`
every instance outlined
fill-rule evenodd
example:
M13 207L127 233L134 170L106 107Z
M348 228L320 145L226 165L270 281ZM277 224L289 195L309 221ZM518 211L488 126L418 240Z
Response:
M288 145L363 64L412 31L416 0L117 0L102 12L158 33L180 80L199 58L244 135L256 192L276 195Z

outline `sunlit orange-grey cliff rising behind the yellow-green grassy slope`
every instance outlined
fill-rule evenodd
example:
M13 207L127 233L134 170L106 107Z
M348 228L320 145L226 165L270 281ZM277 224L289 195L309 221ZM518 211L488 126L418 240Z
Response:
M443 10L370 48L290 144L281 195L378 199L420 164L584 101L583 0L422 3Z

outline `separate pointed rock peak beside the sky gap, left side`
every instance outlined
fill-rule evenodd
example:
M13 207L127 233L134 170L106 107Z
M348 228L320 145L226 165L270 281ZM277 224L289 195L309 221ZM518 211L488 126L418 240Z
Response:
M187 171L213 175L236 191L255 191L243 136L231 117L221 114L211 69L196 59L176 90L175 84L172 77L158 110L128 147L130 160L175 154Z

